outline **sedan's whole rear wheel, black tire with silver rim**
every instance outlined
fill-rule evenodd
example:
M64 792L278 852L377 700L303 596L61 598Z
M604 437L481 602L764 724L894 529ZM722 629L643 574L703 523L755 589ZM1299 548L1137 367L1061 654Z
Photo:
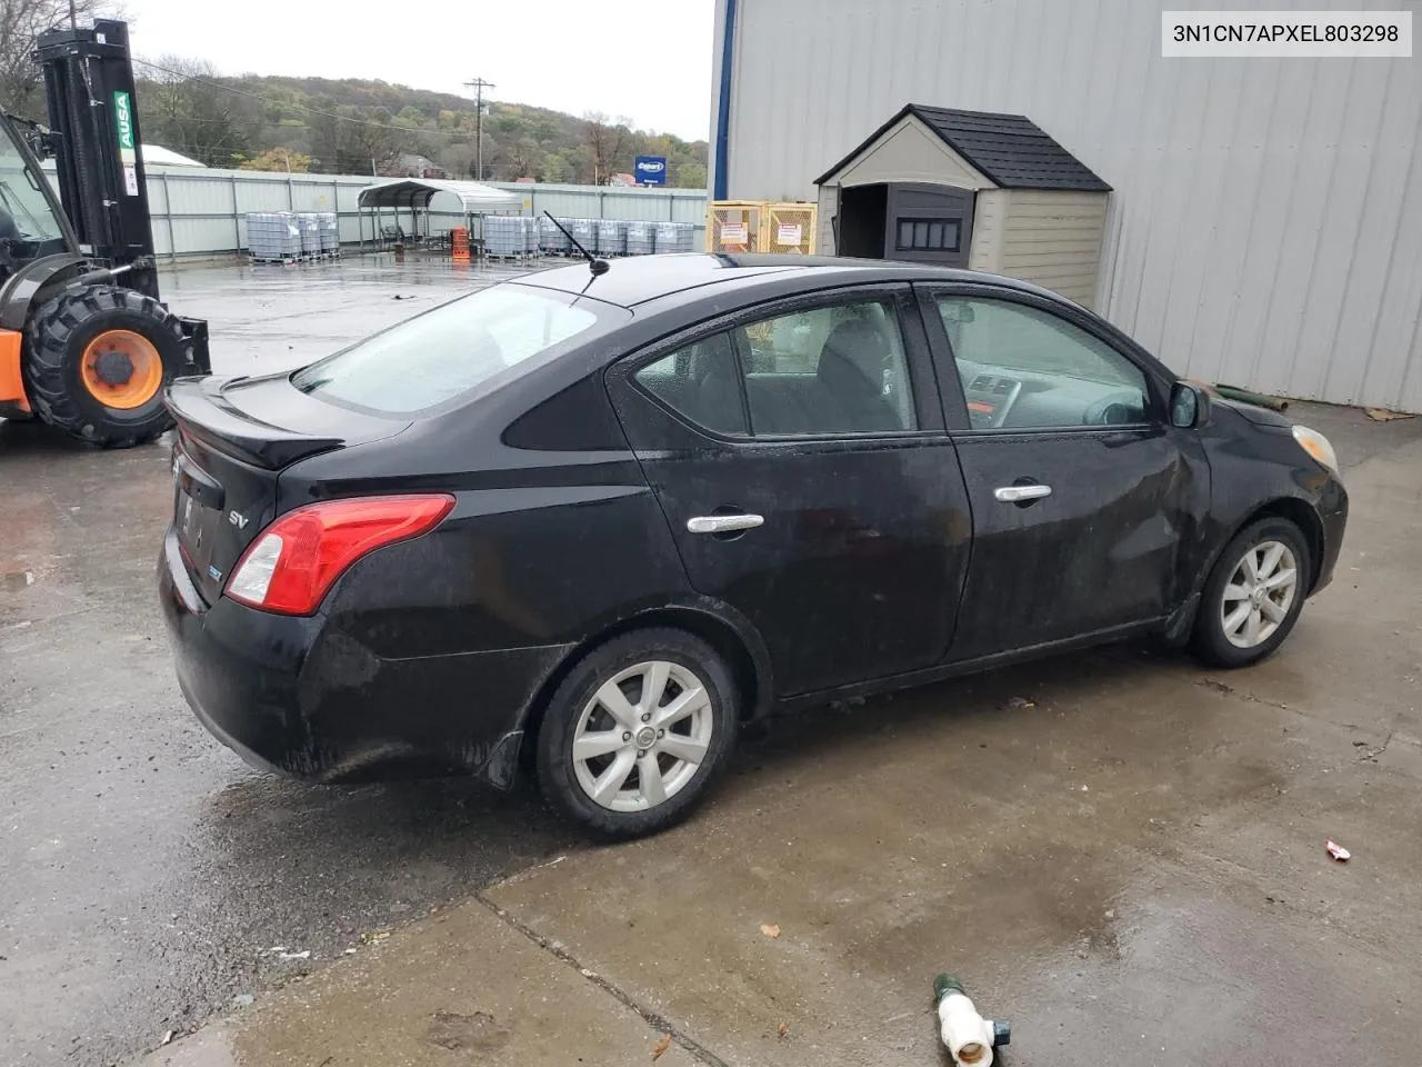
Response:
M663 681L660 700L656 707L646 707L643 693L658 679ZM626 700L616 708L620 720L611 714L611 706L619 701L604 701L599 696L609 684L614 684ZM657 708L667 711L697 689L705 699L691 697L694 710L690 714L684 711L684 717L658 727ZM538 733L539 784L565 815L600 838L656 834L695 807L729 758L739 704L729 667L701 639L671 629L614 637L579 660L553 694ZM660 737L650 733L658 728ZM641 730L648 733L638 738ZM607 751L574 758L579 737ZM673 747L674 753L667 751ZM685 758L691 753L702 754L700 763ZM648 758L654 760L650 767L664 794L660 801L656 787L644 777ZM600 782L616 785L619 781L619 791L609 788L602 800L594 795Z

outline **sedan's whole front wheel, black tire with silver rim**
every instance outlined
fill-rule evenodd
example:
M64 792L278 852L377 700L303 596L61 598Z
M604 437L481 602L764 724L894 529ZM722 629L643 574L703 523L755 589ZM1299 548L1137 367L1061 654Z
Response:
M1261 566L1270 565L1276 546L1283 546L1283 553L1273 570L1263 570ZM1288 568L1290 555L1293 568ZM1258 580L1250 579L1247 558L1254 559ZM1230 669L1247 667L1271 656L1298 622L1308 596L1311 568L1308 542L1288 519L1267 518L1246 526L1220 553L1204 583L1190 650L1212 667ZM1287 603L1281 603L1287 582L1278 579L1288 569L1294 572L1291 592ZM1239 596L1240 590L1253 590L1261 583L1266 586L1261 595ZM1244 615L1237 615L1241 610ZM1227 622L1233 626L1227 627ZM1253 632L1251 626L1256 627Z

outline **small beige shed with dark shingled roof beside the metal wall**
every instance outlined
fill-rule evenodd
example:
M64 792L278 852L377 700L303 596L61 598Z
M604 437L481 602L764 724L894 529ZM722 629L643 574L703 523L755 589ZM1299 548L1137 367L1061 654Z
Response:
M1111 186L1022 115L909 104L815 185L820 252L990 270L1095 307Z

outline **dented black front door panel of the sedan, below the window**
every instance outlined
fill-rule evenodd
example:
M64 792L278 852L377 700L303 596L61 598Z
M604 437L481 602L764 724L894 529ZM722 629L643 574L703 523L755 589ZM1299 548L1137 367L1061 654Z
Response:
M1163 427L956 440L973 559L953 660L1169 615L1187 595L1209 467ZM1025 504L995 492L1041 484Z

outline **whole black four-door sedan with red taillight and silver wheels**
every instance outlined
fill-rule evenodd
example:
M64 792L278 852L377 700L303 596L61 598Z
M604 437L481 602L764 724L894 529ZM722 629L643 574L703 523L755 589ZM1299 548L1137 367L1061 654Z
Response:
M566 266L168 403L158 579L213 734L316 781L536 767L606 835L774 708L1132 635L1254 663L1348 506L1322 435L893 263Z

